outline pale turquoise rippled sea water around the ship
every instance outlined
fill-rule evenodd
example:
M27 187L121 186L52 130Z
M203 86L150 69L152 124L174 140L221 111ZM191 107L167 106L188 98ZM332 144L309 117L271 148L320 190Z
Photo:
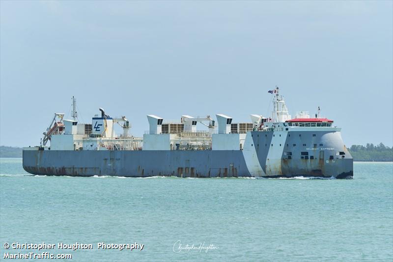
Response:
M34 176L0 161L0 260L393 260L392 162L356 162L341 180ZM16 242L56 247L4 248ZM58 248L76 242L92 248Z

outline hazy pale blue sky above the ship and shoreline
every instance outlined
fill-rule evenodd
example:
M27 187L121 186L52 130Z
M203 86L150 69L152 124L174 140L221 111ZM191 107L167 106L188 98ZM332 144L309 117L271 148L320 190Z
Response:
M276 85L345 145L392 146L393 1L0 1L2 146L39 145L72 96L142 136L148 114L268 116Z

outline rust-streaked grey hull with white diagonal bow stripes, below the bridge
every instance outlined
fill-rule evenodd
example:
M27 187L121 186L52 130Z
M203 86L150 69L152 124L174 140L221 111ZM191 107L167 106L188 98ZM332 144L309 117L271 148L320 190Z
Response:
M239 150L31 147L23 150L23 168L34 175L351 178L353 159L340 132L252 131Z

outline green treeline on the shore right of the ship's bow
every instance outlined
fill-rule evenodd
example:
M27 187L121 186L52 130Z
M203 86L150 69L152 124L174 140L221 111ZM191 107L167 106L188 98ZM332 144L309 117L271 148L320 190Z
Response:
M393 161L393 147L379 143L366 146L353 145L349 149L354 161Z

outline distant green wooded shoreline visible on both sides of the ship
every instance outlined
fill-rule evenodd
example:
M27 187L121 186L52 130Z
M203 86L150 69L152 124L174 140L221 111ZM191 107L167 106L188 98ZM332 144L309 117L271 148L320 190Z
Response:
M393 161L393 147L380 143L378 146L353 145L349 149L354 161ZM0 157L22 157L22 148L0 146Z

